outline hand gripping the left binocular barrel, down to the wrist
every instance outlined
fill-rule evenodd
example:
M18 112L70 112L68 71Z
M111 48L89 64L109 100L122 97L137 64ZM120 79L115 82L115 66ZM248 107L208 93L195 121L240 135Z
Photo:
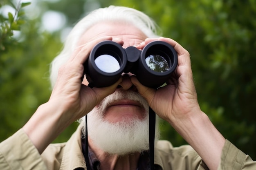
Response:
M67 120L70 119L71 123L90 112L104 97L113 93L121 82L120 79L109 87L90 88L84 78L81 84L83 64L88 59L92 48L104 40L112 40L112 37L98 38L78 46L68 62L59 69L58 78L49 102L61 104L60 107L67 112ZM113 39L113 41L122 44L121 40Z

